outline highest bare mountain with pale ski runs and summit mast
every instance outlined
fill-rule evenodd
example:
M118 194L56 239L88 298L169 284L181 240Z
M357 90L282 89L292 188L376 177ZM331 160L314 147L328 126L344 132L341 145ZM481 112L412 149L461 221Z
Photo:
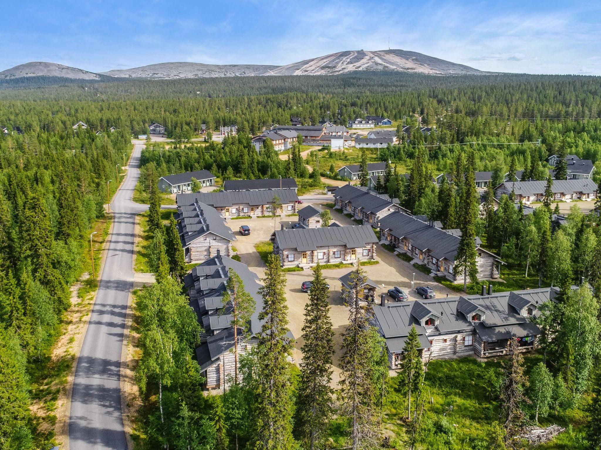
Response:
M282 65L266 75L333 75L350 71L392 70L424 74L481 74L462 64L406 50L350 50Z

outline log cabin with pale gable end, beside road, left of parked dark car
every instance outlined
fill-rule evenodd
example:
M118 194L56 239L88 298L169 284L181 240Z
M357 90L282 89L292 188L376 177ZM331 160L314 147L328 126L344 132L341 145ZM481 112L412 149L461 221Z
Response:
M201 263L218 253L233 256L236 236L215 208L200 202L178 205L175 220L186 263Z

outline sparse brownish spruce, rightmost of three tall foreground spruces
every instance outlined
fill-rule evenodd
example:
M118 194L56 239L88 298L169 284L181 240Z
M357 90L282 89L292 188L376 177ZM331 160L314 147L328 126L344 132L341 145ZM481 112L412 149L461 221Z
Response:
M352 449L369 448L377 440L377 386L373 369L380 344L371 338L367 311L361 307L364 273L361 267L350 277L349 325L343 335L344 353L340 388L343 413L349 418Z

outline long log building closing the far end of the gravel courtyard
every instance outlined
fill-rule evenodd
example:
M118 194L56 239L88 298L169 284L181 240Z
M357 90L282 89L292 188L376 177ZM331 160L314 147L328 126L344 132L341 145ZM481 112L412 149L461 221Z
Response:
M281 207L273 210L273 199L278 197ZM265 189L260 191L210 192L177 194L175 202L190 205L195 201L215 208L224 218L296 213L299 197L294 189Z

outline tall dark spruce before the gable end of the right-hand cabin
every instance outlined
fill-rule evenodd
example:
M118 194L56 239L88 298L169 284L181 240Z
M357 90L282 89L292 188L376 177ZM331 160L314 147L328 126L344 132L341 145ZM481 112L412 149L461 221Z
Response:
M463 291L467 292L468 277L472 283L478 281L478 266L476 265L476 221L478 218L478 193L475 181L474 153L469 155L469 163L465 176L465 188L461 202L461 238L457 247L455 266L458 273L463 275Z

